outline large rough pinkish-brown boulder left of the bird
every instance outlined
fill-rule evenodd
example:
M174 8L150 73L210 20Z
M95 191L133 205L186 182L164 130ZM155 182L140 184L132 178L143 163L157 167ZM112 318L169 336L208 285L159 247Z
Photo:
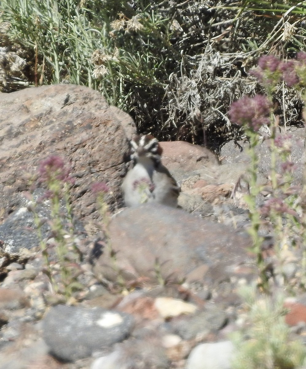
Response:
M98 217L93 182L110 188L109 204L119 204L123 155L136 131L132 118L110 107L87 87L52 85L0 94L0 186L4 217L15 210L41 160L62 156L72 166L75 214Z

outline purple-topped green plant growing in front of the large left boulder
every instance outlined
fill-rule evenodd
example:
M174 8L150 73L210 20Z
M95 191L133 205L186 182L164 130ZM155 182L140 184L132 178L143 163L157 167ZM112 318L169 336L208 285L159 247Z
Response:
M38 168L38 182L46 187L45 194L34 201L31 194L27 194L29 210L34 213L34 222L44 259L44 272L48 276L51 292L61 296L64 301L72 303L75 292L84 286L78 281L82 273L80 262L82 254L75 243L73 208L70 201L70 189L74 183L70 176L70 169L64 160L52 155L42 161ZM44 202L50 207L49 219L42 219L38 206ZM42 226L48 223L50 237L46 239Z

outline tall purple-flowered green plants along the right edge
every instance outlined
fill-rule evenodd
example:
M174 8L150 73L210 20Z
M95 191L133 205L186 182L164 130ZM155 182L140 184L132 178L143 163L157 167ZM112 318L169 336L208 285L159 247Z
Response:
M300 52L295 60L287 62L281 62L272 55L262 56L252 74L264 87L266 96L243 97L232 104L229 115L233 121L243 126L250 142L250 194L245 197L250 210L249 233L253 240L252 251L257 258L259 285L268 290L267 268L261 250L263 239L260 237L263 217L270 222L276 255L280 257L282 248L288 247L288 239L294 240L289 245L293 246L298 237L303 249L302 264L306 265L305 242L301 241L305 240L305 188L303 190L292 186L295 165L291 161L291 136L279 134L278 118L274 116L272 103L272 94L279 83L295 87L305 100L306 53ZM258 207L256 200L262 189L257 184L257 146L263 139L261 135L264 130L268 131L270 145L270 197L262 207ZM303 270L305 274L305 268ZM300 286L306 286L305 281L306 274L301 278Z

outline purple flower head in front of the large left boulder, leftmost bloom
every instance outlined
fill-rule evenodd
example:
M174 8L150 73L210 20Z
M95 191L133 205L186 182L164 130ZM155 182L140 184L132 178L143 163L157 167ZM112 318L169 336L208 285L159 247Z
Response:
M38 167L39 182L50 183L60 180L65 183L74 183L70 177L70 168L65 166L64 160L57 155L50 155L46 160L40 162Z

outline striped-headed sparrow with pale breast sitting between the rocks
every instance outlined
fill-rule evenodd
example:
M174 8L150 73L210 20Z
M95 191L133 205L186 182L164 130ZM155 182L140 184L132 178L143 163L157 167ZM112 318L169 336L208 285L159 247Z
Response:
M142 203L160 203L177 207L180 186L162 165L162 147L151 134L137 135L130 141L133 162L122 183L123 199L128 207Z

